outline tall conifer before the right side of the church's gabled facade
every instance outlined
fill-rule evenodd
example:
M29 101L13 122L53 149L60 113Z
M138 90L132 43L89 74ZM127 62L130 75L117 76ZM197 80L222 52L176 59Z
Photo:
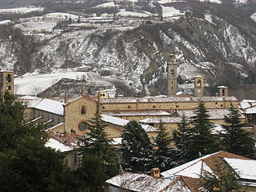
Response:
M109 177L116 175L116 151L110 146L111 139L106 138L106 124L102 121L99 101L96 105L95 115L88 125L88 137L82 139L81 151L85 156L97 156L101 159L104 169Z

